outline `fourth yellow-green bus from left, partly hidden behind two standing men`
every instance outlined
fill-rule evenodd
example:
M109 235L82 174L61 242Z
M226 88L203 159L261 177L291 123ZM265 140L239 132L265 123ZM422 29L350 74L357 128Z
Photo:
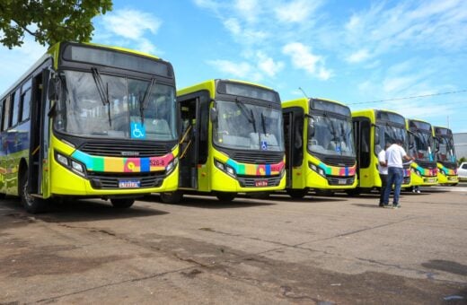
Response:
M386 144L403 142L406 152L409 149L409 138L405 126L405 118L400 114L380 109L363 109L352 112L354 135L357 146L358 186L355 194L370 192L381 187L378 172L378 153ZM410 187L410 163L404 163L404 179L402 188Z

